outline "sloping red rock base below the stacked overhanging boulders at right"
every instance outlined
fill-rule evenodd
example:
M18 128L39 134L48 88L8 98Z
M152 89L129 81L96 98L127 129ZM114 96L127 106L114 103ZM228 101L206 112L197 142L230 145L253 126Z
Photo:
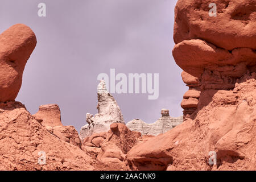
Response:
M194 119L128 152L130 168L255 170L255 78L240 80L234 90L205 90ZM214 166L208 163L210 151L217 153Z

